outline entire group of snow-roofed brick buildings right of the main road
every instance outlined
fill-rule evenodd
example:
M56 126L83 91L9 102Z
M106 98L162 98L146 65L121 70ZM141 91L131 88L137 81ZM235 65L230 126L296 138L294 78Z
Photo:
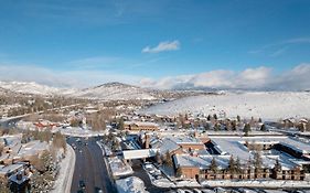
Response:
M161 157L169 153L171 167L181 179L310 180L310 146L298 138L279 133L207 136L192 130L162 130L147 121L126 121L125 126L128 131L139 131L142 149L158 151ZM231 165L232 160L237 167Z

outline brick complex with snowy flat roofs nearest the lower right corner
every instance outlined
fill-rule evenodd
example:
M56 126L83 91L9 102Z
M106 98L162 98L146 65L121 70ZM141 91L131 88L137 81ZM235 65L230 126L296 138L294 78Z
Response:
M249 149L248 143L263 148ZM206 154L173 154L175 169L184 178L197 180L276 179L309 180L309 144L288 137L210 137ZM238 170L231 170L231 159ZM216 163L216 170L212 168ZM260 162L260 163L257 163ZM256 165L259 164L259 168ZM214 165L213 165L214 167Z

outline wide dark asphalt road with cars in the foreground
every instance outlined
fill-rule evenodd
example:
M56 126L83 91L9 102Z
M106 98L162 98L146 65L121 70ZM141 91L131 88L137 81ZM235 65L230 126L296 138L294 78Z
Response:
M93 193L103 190L106 193L115 192L111 180L104 162L101 149L96 143L95 138L85 140L79 138L68 138L71 146L76 146L76 162L71 192L81 190L79 181L85 182L85 192Z

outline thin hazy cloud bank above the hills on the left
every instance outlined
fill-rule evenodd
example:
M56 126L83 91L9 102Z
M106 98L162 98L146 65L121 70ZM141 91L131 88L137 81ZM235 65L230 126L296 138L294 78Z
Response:
M143 77L98 69L53 71L36 65L0 63L0 81L36 82L55 87L88 87L107 82L139 83Z

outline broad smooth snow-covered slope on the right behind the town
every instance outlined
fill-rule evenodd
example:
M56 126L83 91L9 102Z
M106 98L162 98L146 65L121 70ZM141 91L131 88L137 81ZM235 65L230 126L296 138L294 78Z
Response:
M193 112L225 115L226 117L279 119L310 117L310 93L257 92L201 95L158 104L142 114L178 115Z

